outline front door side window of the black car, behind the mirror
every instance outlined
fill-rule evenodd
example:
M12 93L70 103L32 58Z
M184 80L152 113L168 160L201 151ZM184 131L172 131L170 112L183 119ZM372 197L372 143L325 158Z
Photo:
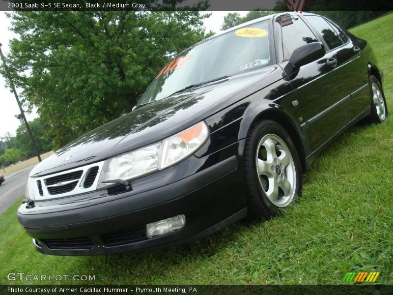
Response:
M318 41L309 27L300 18L295 19L287 16L278 18L277 22L281 25L284 60L289 60L296 48Z

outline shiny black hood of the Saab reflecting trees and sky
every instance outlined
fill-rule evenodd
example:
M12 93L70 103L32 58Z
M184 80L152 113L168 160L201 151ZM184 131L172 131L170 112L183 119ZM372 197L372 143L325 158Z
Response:
M60 148L30 176L84 166L158 142L280 79L281 68L269 66L140 107Z

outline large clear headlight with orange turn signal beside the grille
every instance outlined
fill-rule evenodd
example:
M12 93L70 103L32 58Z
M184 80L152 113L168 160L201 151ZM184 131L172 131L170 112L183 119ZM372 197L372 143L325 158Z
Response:
M103 181L131 180L178 163L197 151L208 135L206 124L200 122L162 142L110 158L105 161L97 188L112 184Z

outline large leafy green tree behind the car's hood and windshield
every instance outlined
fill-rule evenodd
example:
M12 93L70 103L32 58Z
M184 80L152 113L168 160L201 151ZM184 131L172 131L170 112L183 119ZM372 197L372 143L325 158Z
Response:
M11 29L20 40L10 42L7 59L24 103L53 125L47 134L59 148L128 113L169 59L205 37L205 17L199 11L18 11Z

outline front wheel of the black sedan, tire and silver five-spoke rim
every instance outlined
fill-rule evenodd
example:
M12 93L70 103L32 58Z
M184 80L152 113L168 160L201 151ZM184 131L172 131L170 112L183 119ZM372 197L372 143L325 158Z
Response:
M255 123L244 150L248 217L271 218L293 204L302 189L301 165L285 129L272 120Z

